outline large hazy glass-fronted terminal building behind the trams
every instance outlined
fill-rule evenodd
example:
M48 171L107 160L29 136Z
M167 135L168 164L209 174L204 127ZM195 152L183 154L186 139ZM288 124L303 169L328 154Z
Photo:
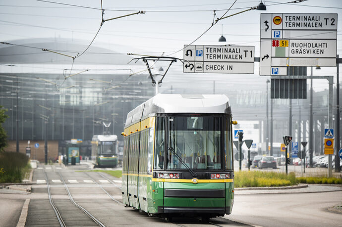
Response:
M270 84L267 83L269 77L257 73L189 74L183 73L181 63L177 62L171 66L162 86L157 84L153 87L146 65L141 60L130 62L136 56L115 51L119 47L91 46L73 62L71 57L42 51L41 47L68 50L67 55L75 55L76 50L84 49L86 44L83 46L78 42L75 45L71 40L56 42L53 39L19 40L15 43L30 47L0 46L0 105L8 110L6 114L9 117L2 124L9 140L6 151L15 151L18 139L20 152L25 152L25 147L30 146L31 157L44 161L44 139L47 138L48 159L54 161L58 154L65 152L72 139L78 139L81 155L90 156L90 141L94 135L108 131L122 140L120 134L127 113L157 92L226 94L233 119L239 123L235 129L243 129L244 138L253 139L256 143L254 149L259 154L269 152L266 146L267 125L275 156L281 154L278 145L283 142L282 137L289 134L289 99L271 99ZM164 74L167 67L168 63L156 62L152 72ZM305 75L306 70L301 73ZM160 78L155 76L157 82ZM298 142L308 141L309 88L308 80L307 99L292 99L291 103L292 136ZM321 138L328 122L328 94L328 89L313 92L316 154L322 154L324 150ZM271 108L273 129L270 128ZM106 128L109 123L110 127ZM40 144L39 147L34 147L36 143Z

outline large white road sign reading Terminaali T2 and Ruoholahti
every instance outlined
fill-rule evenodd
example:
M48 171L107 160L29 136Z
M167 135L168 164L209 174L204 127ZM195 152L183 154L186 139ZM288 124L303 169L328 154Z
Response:
M288 66L336 67L337 14L261 13L260 75Z

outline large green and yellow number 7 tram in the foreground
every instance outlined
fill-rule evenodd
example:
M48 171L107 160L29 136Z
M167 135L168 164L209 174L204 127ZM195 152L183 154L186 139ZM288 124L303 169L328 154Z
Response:
M122 199L171 220L230 214L232 116L226 95L157 94L127 114Z

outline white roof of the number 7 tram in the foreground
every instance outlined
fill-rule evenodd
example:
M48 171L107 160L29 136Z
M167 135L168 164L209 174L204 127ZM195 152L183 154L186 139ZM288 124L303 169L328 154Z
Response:
M157 94L127 114L125 127L156 113L231 114L225 94Z

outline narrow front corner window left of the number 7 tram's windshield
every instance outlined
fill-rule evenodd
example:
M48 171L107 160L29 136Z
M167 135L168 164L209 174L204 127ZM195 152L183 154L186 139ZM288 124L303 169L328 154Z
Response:
M165 117L157 117L154 169L164 169Z

